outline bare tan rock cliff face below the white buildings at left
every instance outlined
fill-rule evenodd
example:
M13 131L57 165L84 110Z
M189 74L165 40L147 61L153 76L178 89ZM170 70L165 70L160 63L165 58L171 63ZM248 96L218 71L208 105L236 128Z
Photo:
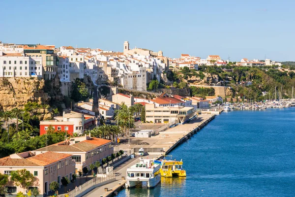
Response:
M15 107L24 108L27 102L48 104L50 97L44 92L44 80L33 77L1 77L0 78L0 109L11 110Z

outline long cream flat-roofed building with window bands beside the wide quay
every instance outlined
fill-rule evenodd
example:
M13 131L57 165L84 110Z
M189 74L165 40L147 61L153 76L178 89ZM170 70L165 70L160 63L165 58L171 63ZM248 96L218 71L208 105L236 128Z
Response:
M193 107L183 106L156 106L146 103L146 121L152 123L180 123L183 124L193 116L195 111Z

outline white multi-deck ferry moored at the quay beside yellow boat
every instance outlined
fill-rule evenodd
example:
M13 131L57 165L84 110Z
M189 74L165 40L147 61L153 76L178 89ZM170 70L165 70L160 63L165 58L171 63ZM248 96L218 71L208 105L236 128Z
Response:
M132 188L141 182L147 182L148 188L156 187L161 181L160 164L154 160L141 159L139 163L127 168L126 187Z

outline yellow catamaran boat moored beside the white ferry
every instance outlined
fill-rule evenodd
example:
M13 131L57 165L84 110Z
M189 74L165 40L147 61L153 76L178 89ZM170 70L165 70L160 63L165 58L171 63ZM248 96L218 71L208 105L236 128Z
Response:
M161 164L160 172L161 176L173 177L173 176L186 176L186 171L182 168L182 160L159 160L155 163Z

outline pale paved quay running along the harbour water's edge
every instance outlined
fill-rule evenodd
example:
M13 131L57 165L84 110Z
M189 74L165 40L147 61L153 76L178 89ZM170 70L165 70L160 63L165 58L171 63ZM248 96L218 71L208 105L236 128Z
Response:
M178 143L184 140L184 138L190 134L192 131L196 130L196 128L200 127L202 124L205 124L209 119L212 119L215 115L212 114L201 114L195 120L190 121L184 125L178 125L177 127L170 128L166 131L159 132L158 135L152 136L150 138L130 138L130 147L131 148L155 148L155 149L163 149L164 153L156 153L149 152L147 156L144 158L159 158L163 154L168 154ZM146 142L146 145L137 145L136 143ZM120 149L127 150L128 142L120 145ZM114 169L114 174L116 175L116 181L103 185L101 187L95 188L84 197L109 197L113 195L114 191L119 190L121 186L123 186L126 180L122 180L122 176L126 177L126 169L139 162L141 157L136 157L134 159L130 159L117 166ZM105 188L108 190L112 189L112 191L105 191Z

